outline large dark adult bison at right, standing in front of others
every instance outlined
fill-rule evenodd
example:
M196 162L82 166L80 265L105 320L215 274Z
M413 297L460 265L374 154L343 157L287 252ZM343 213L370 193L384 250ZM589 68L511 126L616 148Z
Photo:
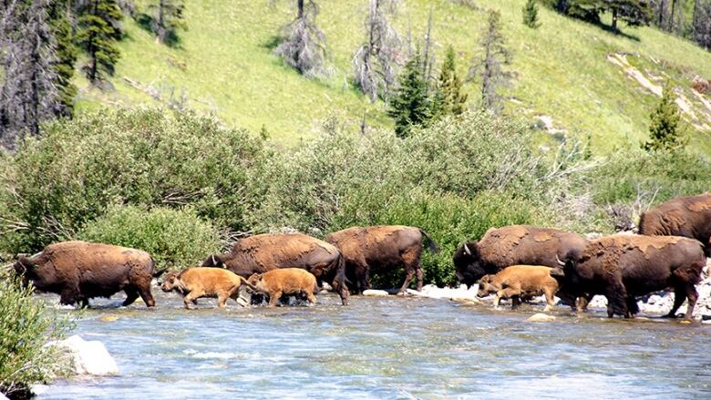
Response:
M635 297L674 289L675 301L666 315L674 317L687 299L691 318L696 283L706 256L699 241L679 236L614 235L591 241L578 261L551 270L551 276L575 293L603 294L607 315L631 317L639 312Z

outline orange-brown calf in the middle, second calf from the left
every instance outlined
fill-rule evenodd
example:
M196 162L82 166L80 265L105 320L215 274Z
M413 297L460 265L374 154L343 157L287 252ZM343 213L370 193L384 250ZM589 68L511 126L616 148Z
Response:
M315 304L314 294L319 291L314 274L300 268L254 273L246 283L252 291L269 296L269 307L273 307L284 294L303 295L309 303Z

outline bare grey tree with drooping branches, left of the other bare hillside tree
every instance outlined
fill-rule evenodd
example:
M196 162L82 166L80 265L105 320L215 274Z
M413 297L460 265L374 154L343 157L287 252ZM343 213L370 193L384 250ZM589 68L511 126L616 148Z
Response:
M319 7L314 0L296 0L296 18L283 26L282 43L274 54L281 56L305 77L325 74L325 35L315 24Z

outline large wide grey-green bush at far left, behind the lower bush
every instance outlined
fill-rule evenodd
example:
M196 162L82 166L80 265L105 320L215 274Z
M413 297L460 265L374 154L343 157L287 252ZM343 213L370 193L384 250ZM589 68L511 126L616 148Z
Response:
M252 173L263 142L213 118L160 109L102 110L49 123L5 160L5 246L31 252L64 240L110 204L191 207L240 231L259 202ZM2 171L3 169L0 169ZM0 243L2 244L2 243Z

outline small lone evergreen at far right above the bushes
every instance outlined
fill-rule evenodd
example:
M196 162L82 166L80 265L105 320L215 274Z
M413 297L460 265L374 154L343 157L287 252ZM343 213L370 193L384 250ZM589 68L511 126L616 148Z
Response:
M686 138L681 135L679 126L681 114L675 99L674 88L667 83L659 104L650 116L650 140L643 145L647 151L671 150L685 146Z

